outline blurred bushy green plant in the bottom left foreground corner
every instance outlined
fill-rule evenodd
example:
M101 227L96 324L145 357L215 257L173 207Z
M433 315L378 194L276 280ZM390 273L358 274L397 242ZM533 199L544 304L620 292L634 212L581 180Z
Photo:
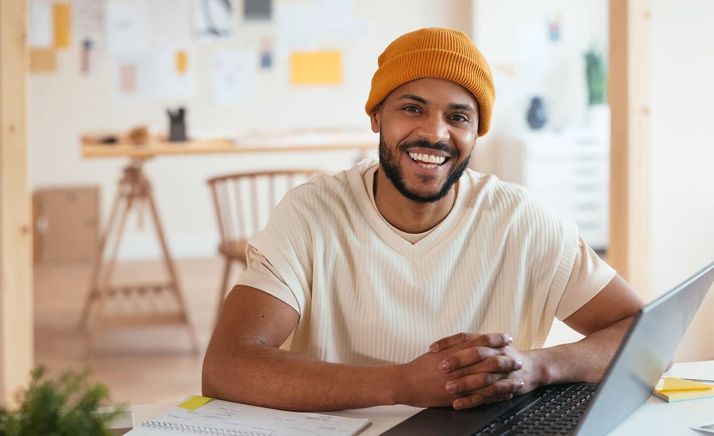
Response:
M117 412L95 413L109 401L104 385L87 380L89 370L67 371L58 380L41 380L44 367L31 372L15 412L0 407L0 436L104 436Z

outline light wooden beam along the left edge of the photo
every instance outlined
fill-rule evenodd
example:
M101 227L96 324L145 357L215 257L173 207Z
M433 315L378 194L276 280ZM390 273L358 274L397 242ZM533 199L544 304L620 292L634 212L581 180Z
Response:
M26 0L0 1L0 401L7 405L33 365L25 17Z

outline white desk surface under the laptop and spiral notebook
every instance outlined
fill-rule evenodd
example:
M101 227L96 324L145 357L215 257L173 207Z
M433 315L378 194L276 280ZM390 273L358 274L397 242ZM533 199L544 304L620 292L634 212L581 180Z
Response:
M705 362L678 363L665 375L673 377L688 377L714 379L714 360ZM159 404L134 405L136 425L145 420L151 420L161 415L177 402L162 402ZM377 436L397 425L399 422L419 412L421 408L405 405L367 407L366 409L342 410L331 412L330 415L368 418L372 425L361 436ZM692 425L714 423L714 398L685 402L665 402L657 397L650 397L645 404L636 410L627 420L622 422L611 436L631 435L703 435L692 430Z

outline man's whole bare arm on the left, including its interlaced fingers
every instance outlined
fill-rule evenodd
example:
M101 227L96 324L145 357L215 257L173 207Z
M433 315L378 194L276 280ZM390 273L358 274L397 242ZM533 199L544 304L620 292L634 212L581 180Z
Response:
M453 374L437 369L447 352L427 352L403 365L326 363L279 349L297 322L298 314L281 300L248 286L233 288L203 360L203 395L303 411L450 405L457 397L443 390ZM493 350L481 360L493 360L494 370L507 374L516 369L515 359L501 355L508 345L504 335L475 341ZM518 383L505 376L479 387L494 400L506 399L517 389Z

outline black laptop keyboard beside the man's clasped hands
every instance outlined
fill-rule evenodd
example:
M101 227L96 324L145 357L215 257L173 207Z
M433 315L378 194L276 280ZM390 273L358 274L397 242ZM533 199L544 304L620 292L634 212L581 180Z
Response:
M481 435L567 435L578 424L595 385L553 385L538 390L540 396L527 405L499 415L473 432Z

